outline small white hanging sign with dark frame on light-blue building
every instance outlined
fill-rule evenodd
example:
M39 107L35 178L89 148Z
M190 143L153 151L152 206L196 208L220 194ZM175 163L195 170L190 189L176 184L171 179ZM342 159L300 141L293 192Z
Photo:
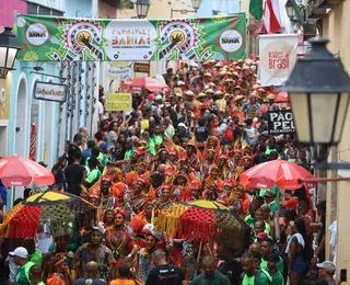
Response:
M37 100L66 102L67 86L36 81L34 86L34 98Z

